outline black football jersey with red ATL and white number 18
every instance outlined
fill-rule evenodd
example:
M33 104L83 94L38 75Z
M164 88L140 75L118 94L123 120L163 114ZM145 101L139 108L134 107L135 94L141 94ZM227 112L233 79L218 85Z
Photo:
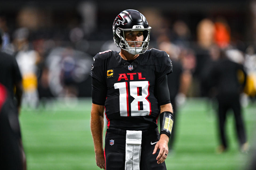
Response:
M168 54L156 49L147 50L131 63L116 51L98 53L90 74L107 87L104 105L108 126L127 130L157 128L161 101L155 94L156 80L171 71Z

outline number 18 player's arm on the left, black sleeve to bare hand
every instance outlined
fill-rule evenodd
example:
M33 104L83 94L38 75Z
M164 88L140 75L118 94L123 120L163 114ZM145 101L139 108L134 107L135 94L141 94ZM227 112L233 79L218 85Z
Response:
M105 53L101 55L104 57ZM92 77L92 107L91 107L91 134L93 136L95 159L98 167L106 169L103 150L104 104L107 96L107 84L102 68L101 57L97 54L91 68Z

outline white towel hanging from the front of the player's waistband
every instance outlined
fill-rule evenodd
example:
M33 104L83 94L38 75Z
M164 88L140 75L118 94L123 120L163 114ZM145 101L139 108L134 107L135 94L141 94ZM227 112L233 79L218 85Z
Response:
M142 131L126 130L125 170L139 170Z

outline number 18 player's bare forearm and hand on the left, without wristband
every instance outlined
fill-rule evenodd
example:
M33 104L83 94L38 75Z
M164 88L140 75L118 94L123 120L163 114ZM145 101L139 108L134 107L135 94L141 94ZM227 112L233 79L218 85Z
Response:
M104 106L91 106L91 134L93 136L95 159L98 167L106 169L103 150Z

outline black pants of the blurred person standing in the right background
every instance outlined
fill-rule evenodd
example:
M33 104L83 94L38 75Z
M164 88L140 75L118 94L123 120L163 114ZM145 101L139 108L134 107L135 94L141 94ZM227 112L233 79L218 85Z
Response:
M218 96L219 111L219 132L221 137L221 143L224 147L227 147L227 139L225 133L225 123L227 111L232 109L235 116L235 126L237 131L237 137L240 146L246 142L245 128L243 124L243 118L241 115L241 105L239 101L239 95L219 95Z

